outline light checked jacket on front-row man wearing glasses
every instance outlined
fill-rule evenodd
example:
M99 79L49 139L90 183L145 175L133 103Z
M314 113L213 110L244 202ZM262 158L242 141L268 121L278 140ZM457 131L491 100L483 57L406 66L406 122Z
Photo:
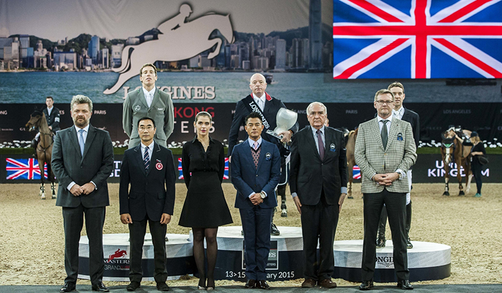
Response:
M397 169L406 173L416 162L416 146L410 123L392 119L386 149L383 149L378 119L361 123L354 156L363 177L361 192L380 193L384 187L372 181L373 174L392 173ZM408 181L396 180L386 189L393 193L409 193Z

